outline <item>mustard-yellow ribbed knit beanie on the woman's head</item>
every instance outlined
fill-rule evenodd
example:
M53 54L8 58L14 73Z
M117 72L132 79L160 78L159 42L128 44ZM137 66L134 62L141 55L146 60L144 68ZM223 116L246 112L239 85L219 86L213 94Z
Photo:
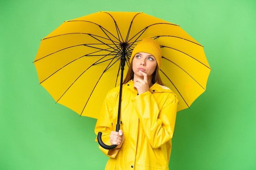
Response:
M138 52L146 52L153 55L157 61L158 69L160 69L162 63L162 51L155 39L146 38L139 42L139 44L137 44L137 46L135 46L135 48L133 48L132 50L130 63L132 62L135 54L137 54Z

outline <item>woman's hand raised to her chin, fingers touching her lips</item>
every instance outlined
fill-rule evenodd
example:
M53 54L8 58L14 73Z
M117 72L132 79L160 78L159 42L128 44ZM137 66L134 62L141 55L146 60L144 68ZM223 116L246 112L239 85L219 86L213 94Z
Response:
M138 94L142 94L144 92L148 92L149 91L149 86L148 86L148 75L142 71L139 71L142 76L143 76L143 80L141 78L137 78L136 80L134 80L134 88L137 89Z

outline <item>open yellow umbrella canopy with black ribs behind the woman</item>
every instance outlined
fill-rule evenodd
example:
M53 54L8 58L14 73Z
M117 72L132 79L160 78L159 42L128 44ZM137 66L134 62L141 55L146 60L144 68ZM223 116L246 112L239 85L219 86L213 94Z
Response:
M81 116L97 118L106 93L120 85L132 49L144 38L162 49L160 76L190 107L211 71L202 45L180 26L141 12L97 12L68 20L41 40L34 60L40 84L54 100Z

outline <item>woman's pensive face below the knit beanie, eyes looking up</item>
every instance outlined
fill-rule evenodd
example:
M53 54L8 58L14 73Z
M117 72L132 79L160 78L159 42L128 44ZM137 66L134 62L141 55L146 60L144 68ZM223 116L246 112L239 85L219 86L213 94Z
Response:
M148 78L152 78L152 74L155 72L157 67L157 61L155 57L146 52L139 52L135 54L132 61L132 70L134 72L134 76L142 76L139 72L142 71L148 74Z

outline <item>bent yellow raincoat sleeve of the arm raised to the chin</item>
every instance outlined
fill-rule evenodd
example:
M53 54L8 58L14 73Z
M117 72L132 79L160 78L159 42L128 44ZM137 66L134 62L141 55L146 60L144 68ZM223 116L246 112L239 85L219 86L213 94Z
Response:
M132 99L146 139L152 148L159 148L173 137L178 100L175 94L169 93L163 102L159 104L159 110L157 101L150 92Z

